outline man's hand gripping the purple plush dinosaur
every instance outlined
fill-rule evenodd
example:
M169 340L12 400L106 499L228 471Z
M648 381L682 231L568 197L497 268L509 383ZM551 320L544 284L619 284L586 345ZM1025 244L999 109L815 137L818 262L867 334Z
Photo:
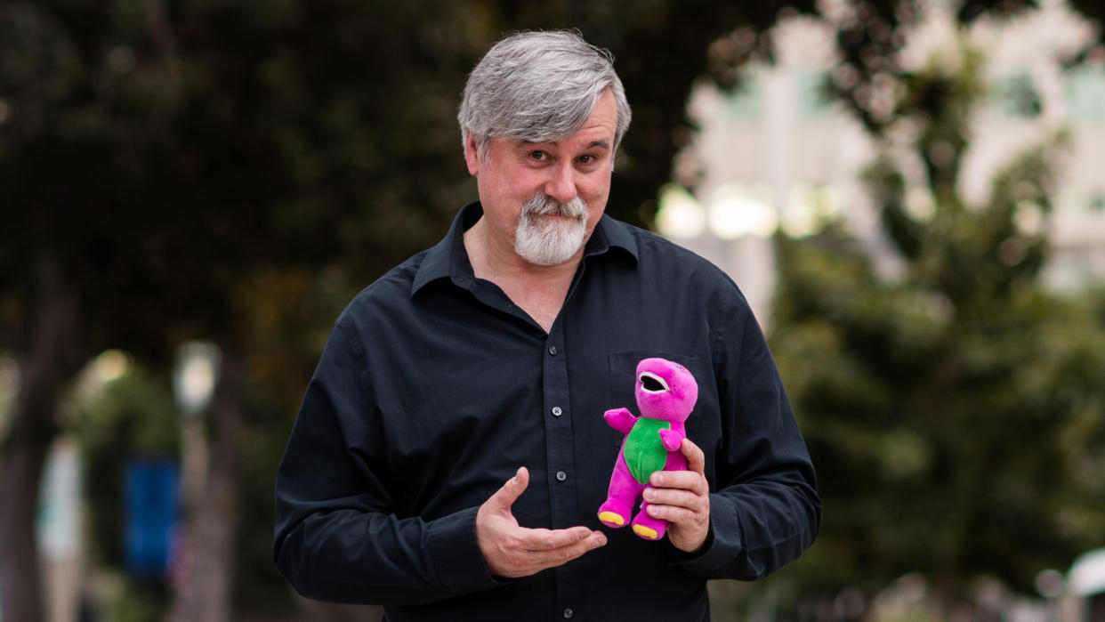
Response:
M667 539L675 548L696 552L709 535L709 484L706 456L698 445L683 439L680 452L687 458L686 471L656 471L644 491L649 516L669 521Z

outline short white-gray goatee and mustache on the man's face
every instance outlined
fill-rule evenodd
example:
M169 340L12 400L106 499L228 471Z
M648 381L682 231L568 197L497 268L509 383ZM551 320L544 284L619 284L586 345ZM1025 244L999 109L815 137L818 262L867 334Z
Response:
M564 215L545 219L543 214ZM561 203L537 193L522 205L522 218L514 234L514 252L536 265L557 265L572 257L583 246L587 235L587 203L579 197Z

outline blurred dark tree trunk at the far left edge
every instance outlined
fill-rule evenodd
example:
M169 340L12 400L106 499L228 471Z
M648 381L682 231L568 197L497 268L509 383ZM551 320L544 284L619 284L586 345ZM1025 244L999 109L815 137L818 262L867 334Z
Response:
M28 312L33 324L19 348L19 389L0 440L0 619L38 622L44 611L34 525L39 485L59 430L57 404L83 361L72 346L75 298L51 271L43 271L41 298Z

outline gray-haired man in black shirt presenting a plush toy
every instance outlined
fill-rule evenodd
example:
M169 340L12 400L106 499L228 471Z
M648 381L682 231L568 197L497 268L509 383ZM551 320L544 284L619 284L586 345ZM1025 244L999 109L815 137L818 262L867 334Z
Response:
M707 620L819 529L813 468L764 336L716 267L603 215L630 122L609 55L522 33L460 110L480 201L338 318L276 481L276 565L387 620ZM638 361L699 386L655 474L660 541L596 516ZM504 483L505 482L505 483Z

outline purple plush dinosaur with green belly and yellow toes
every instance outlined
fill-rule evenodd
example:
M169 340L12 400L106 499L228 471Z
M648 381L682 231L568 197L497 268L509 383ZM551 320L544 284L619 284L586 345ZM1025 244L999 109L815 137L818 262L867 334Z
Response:
M636 408L608 410L603 417L611 428L625 434L618 462L610 476L610 492L599 507L599 520L608 527L624 527L656 471L683 471L686 457L680 445L686 437L683 422L698 400L698 383L682 365L662 358L644 359L636 366ZM648 502L633 518L633 533L648 540L659 540L667 521L649 516Z

